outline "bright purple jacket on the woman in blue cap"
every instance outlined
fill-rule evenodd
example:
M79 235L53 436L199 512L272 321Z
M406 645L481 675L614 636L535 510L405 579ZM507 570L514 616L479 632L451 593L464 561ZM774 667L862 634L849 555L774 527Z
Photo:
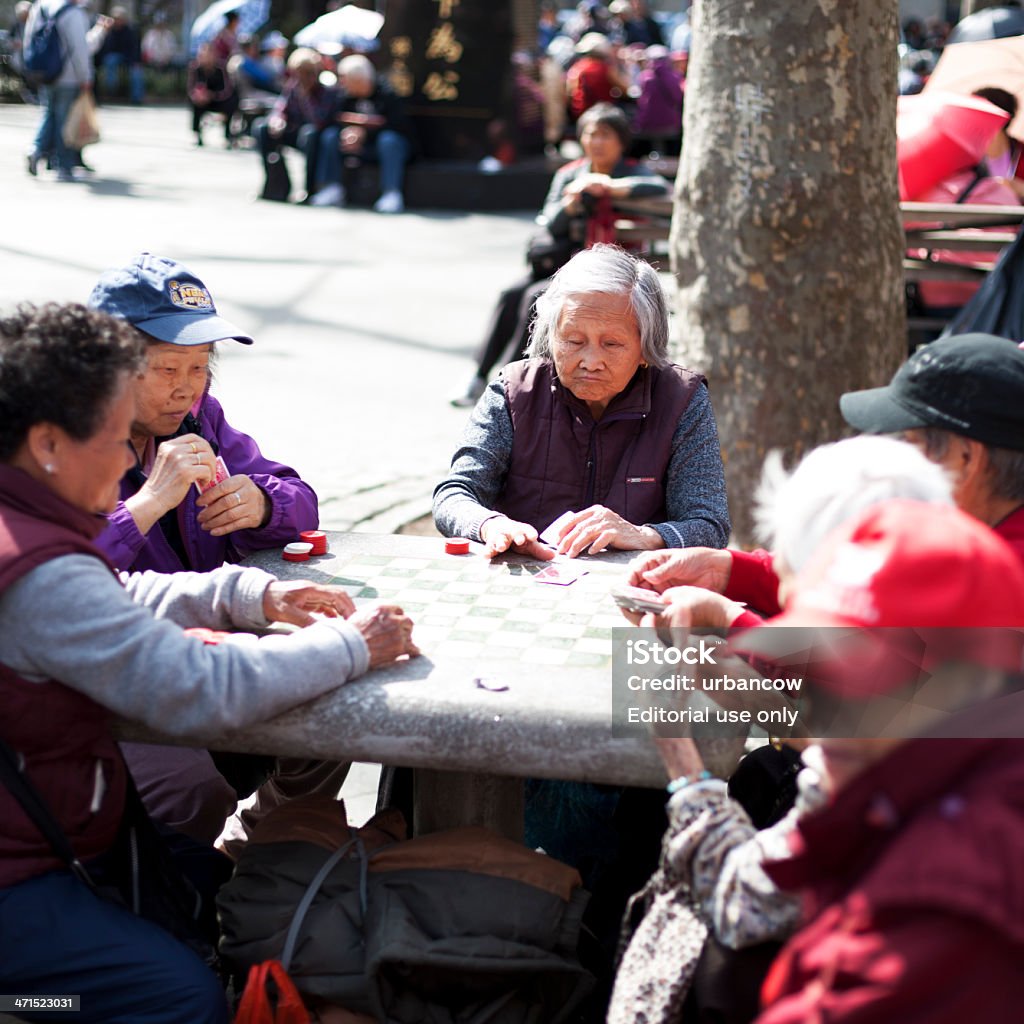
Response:
M194 415L200 422L199 433L205 437L227 466L229 473L242 473L252 479L270 500L270 521L260 529L240 529L226 537L213 537L197 521L199 497L190 487L185 500L178 506L178 527L188 564L182 565L174 549L164 536L160 523L147 535L139 532L124 502L138 490L133 474L121 481L121 501L108 519L110 526L96 540L96 547L119 568L141 572L180 572L193 569L206 572L224 562L237 562L245 555L263 548L276 548L298 540L304 529L315 529L319 524L316 495L308 483L290 466L265 459L256 442L236 430L224 419L224 411L212 395L200 401Z

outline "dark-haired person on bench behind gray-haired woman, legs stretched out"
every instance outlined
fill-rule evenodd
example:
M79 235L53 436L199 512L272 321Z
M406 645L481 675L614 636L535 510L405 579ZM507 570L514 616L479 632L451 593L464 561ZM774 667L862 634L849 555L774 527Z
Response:
M529 273L498 297L487 333L477 353L476 373L464 394L453 406L475 404L487 386L492 370L501 361L522 358L529 342L529 324L538 296L551 274L588 242L591 216L606 199L668 196L669 182L646 165L627 160L630 125L611 103L592 106L577 122L583 158L560 167L551 179L548 196L538 216L561 253L535 260ZM512 345L515 344L515 351Z

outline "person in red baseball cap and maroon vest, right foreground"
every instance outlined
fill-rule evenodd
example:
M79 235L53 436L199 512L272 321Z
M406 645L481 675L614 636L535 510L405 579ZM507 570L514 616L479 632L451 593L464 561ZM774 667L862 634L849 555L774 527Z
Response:
M851 566L870 571L852 573ZM1024 569L1001 541L956 509L887 502L831 534L785 603L782 615L735 638L734 649L765 650L774 626L835 626L844 635L854 627L883 644L907 627L921 639L963 627L1018 626ZM979 644L976 659L966 645L963 657L949 650L929 659L928 674L953 709L997 695L1019 672L1019 643ZM817 684L846 705L908 699L921 674L896 644L881 676L878 657L868 671L858 670L847 650L830 664L827 653L815 655L825 668ZM972 734L979 735L977 722ZM662 739L658 748L673 779L663 865L692 908L687 931L696 946L709 934L729 950L785 939L801 921L797 891L806 897L802 930L764 987L750 963L730 979L728 968L740 963L731 953L716 964L711 992L727 993L728 1007L698 1000L684 1019L751 1020L759 990L759 1024L1013 1018L1024 909L1016 878L1024 848L1024 819L1014 803L1024 780L1018 740L927 733L820 740L804 754L817 777L803 774L797 806L760 833L725 784L701 772L692 739ZM992 849L1008 855L993 860ZM652 993L677 996L682 986L685 995L695 969L700 994L696 956L683 952L690 943L677 941L678 974L666 977L656 925L656 918L645 921L630 943L609 1024L634 1021L640 1012L668 1019L652 1006ZM952 972L955 985L938 993L937 970Z

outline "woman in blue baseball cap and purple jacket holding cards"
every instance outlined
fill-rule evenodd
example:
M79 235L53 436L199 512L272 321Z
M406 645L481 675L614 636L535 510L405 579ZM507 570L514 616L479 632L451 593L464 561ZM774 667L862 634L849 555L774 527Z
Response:
M196 274L142 253L105 271L89 305L127 321L147 342L134 388L135 466L98 542L111 561L136 571L206 571L316 528L312 487L266 459L210 394L214 345L252 338L218 314Z

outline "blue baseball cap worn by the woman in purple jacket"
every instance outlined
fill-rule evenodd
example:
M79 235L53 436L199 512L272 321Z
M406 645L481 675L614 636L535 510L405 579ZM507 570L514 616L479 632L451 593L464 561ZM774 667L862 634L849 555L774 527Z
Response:
M196 274L152 253L140 253L117 270L104 270L89 296L89 307L172 345L208 345L229 338L253 343L217 314L210 292Z

